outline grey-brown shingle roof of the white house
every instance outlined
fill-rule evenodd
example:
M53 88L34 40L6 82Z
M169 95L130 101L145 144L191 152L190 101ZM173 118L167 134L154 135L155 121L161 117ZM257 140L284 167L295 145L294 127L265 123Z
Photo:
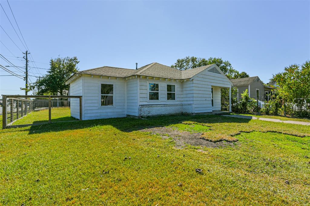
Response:
M178 69L168 67L157 62L145 65L139 69L124 69L118 67L98 67L94 69L88 69L84 71L79 71L79 74L90 74L90 75L103 75L103 76L113 76L113 77L129 77L132 75L144 75L152 76L159 78L168 78L168 79L189 79L201 71L205 70L208 67L211 67L213 64L206 65L203 67L197 67L190 70L180 71Z

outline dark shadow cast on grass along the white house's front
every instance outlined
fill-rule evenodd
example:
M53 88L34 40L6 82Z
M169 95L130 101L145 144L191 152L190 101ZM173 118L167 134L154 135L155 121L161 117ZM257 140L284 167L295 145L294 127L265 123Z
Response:
M113 126L123 132L137 131L151 127L166 127L171 124L176 124L182 121L195 120L198 123L247 123L250 119L241 119L233 117L224 117L219 115L170 115L140 118L109 118L84 120L76 122L55 122L52 124L44 124L40 126L31 126L29 134L38 134L49 131L65 131L83 129L96 126Z

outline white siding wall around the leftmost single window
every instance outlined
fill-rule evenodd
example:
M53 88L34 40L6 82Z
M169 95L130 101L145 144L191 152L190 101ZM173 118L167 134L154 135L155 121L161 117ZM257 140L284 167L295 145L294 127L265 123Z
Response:
M99 76L83 75L83 119L102 119L126 117L126 81L122 78L108 79ZM100 84L114 83L113 107L101 106L100 104Z

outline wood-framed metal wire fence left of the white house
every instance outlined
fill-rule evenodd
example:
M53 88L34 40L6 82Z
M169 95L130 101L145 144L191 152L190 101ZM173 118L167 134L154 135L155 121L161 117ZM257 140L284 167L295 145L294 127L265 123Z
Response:
M2 128L82 120L81 96L3 95Z

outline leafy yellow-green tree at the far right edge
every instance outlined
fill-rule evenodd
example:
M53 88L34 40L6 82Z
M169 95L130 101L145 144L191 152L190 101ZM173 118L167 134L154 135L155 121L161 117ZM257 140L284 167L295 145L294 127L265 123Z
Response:
M310 61L301 67L297 64L284 68L284 72L273 76L280 86L279 94L284 102L294 104L299 116L310 116Z

